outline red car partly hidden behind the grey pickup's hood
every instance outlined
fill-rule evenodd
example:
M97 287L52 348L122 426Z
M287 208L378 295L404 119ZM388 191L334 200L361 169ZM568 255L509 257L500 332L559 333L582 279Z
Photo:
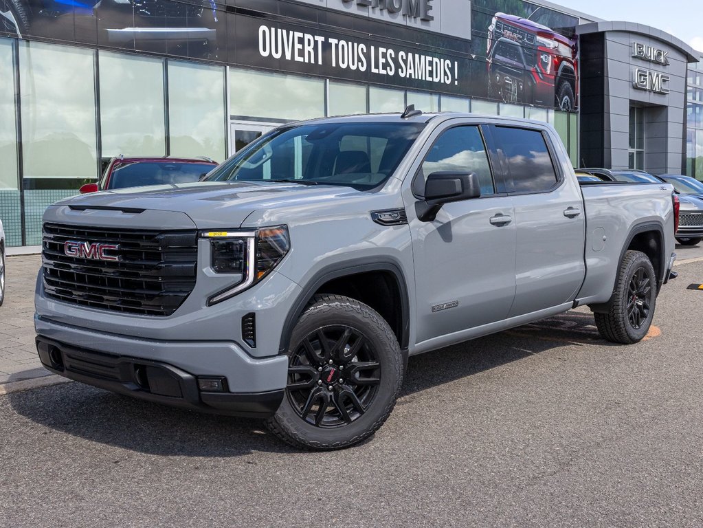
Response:
M198 181L214 167L217 167L217 162L209 157L113 157L98 183L86 183L80 188L80 193L188 183Z

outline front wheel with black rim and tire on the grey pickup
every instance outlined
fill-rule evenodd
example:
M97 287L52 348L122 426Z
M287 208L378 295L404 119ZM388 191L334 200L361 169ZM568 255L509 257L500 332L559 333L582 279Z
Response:
M290 339L288 386L266 426L288 444L330 450L370 437L403 382L398 340L366 304L316 295Z

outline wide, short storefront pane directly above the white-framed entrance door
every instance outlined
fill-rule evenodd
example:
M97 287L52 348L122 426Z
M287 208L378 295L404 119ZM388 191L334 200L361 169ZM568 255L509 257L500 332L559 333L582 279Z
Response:
M305 120L325 115L322 79L229 70L230 113L259 120Z

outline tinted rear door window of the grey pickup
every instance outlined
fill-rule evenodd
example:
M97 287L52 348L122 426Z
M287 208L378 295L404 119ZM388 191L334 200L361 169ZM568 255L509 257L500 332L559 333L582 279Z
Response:
M541 131L496 127L494 136L512 192L538 193L555 186L557 173Z

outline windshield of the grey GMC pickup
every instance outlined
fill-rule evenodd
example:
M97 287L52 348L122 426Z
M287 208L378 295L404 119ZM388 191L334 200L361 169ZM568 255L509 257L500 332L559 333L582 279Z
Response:
M385 182L424 124L322 123L277 129L231 157L207 181L292 181L361 191Z

